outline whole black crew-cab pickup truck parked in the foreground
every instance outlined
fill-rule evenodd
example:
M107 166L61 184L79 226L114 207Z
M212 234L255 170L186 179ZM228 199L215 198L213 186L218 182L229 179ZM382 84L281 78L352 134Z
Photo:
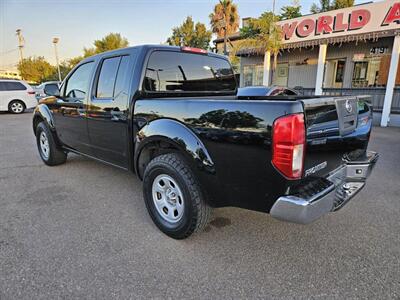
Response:
M46 91L33 131L45 164L69 152L135 172L154 223L182 239L213 207L307 224L365 185L368 97L236 95L227 58L138 46L82 61Z

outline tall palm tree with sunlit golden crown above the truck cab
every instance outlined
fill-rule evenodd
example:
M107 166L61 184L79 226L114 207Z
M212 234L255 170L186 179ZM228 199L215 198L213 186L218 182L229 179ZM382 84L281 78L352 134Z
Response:
M219 0L214 12L210 14L212 32L217 37L224 37L224 54L226 55L227 35L237 32L239 29L239 14L237 5L232 0Z

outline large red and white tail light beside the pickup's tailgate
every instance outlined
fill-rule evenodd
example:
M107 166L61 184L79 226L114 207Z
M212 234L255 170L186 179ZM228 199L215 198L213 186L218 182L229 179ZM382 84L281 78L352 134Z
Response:
M272 133L272 164L288 179L303 173L306 130L303 114L278 118Z

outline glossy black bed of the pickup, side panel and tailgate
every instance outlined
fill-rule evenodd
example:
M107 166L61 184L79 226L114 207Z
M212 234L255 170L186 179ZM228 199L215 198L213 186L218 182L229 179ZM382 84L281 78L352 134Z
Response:
M356 127L347 134L341 129L337 103L349 99ZM291 187L306 179L327 176L343 163L344 155L365 152L372 125L372 111L365 100L304 96L260 99L238 99L229 95L161 97L150 101L138 99L135 120L146 124L172 119L190 128L215 162L211 177L202 172L199 177L203 176L216 206L269 211L277 197L290 191ZM306 121L304 174L302 180L286 180L271 164L272 128L278 117L295 113L304 113ZM148 132L141 133L139 128L140 135L146 136Z

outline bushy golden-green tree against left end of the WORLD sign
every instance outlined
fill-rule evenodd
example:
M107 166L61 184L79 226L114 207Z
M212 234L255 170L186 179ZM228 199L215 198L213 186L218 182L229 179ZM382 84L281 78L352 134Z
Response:
M251 49L254 52L270 51L274 56L274 68L282 47L282 32L276 25L279 17L272 12L265 12L257 19L251 19L249 25L240 30L242 40L234 48L233 55L241 49Z

